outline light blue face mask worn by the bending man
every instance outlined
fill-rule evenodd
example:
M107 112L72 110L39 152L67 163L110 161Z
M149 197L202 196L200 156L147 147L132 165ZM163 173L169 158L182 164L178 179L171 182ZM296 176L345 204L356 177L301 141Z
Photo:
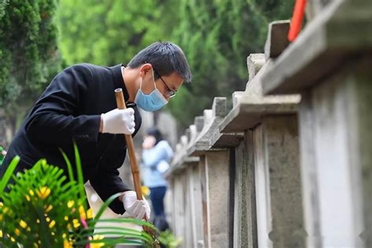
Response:
M154 82L155 89L151 91L150 94L146 95L142 92L142 77L141 82L139 84L139 89L137 94L134 98L134 103L138 105L144 111L157 111L163 108L167 103L167 99L163 96L162 93L156 88L155 80L154 80L154 72L152 71L152 81Z

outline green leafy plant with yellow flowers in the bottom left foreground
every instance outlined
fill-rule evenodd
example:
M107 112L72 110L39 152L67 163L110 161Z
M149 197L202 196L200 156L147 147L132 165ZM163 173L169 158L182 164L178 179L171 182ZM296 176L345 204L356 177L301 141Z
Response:
M71 163L66 159L68 170ZM80 159L75 145L76 169L81 171ZM12 176L14 184L9 192L3 189L11 177L19 157L13 159L0 181L0 244L6 247L113 247L117 244L144 245L157 244L156 237L135 229L110 226L113 223L131 223L147 227L156 233L155 227L136 219L103 219L101 215L120 193L111 196L99 209L94 218L92 209L85 206L86 196L82 174L77 182L73 174L69 180L62 169L47 164L45 159L24 173ZM80 169L79 169L80 168ZM105 226L97 226L106 223ZM160 239L168 247L175 244L170 233L160 234Z

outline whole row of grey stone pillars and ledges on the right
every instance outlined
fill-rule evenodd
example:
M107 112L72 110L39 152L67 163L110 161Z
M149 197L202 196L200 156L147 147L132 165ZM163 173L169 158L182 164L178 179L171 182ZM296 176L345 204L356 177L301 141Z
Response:
M176 145L167 214L183 247L372 247L372 2L310 0L269 25L245 91Z

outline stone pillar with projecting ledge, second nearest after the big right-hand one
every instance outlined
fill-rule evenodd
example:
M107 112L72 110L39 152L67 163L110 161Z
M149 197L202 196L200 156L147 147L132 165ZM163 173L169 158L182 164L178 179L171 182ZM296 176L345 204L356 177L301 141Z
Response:
M279 31L288 28L287 21L270 24L270 28L276 25L285 26ZM269 39L277 39L278 36L282 38L279 31L275 35L269 32ZM305 233L296 116L300 98L296 95L262 95L262 75L272 64L270 58L281 53L278 48L273 47L272 41L266 44L269 44L266 46L266 51L269 52L266 58L269 61L262 64L262 59L265 58L263 54L248 57L250 80L246 91L220 126L222 132L246 133L245 147L242 147L243 144L239 145L236 151L244 153L246 161L243 164L248 166L248 170L242 171L247 174L243 184L249 185L246 187L248 190L255 188L255 192L252 189L250 192L250 196L255 197L247 198L247 209L250 210L250 216L256 216L257 224L254 221L248 222L248 239L240 245L303 247ZM280 48L285 49L285 44ZM239 178L236 178L236 182L239 182ZM238 213L237 217L244 214ZM244 229L241 230L244 232ZM239 238L236 243L239 243Z

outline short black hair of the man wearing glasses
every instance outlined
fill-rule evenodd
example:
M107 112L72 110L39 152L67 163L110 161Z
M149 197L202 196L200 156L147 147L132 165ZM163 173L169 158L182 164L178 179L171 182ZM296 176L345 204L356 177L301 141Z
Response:
M127 64L137 68L144 63L150 63L160 76L168 76L177 72L186 82L191 82L191 71L182 49L171 42L155 42L142 49ZM154 73L155 79L159 78Z

